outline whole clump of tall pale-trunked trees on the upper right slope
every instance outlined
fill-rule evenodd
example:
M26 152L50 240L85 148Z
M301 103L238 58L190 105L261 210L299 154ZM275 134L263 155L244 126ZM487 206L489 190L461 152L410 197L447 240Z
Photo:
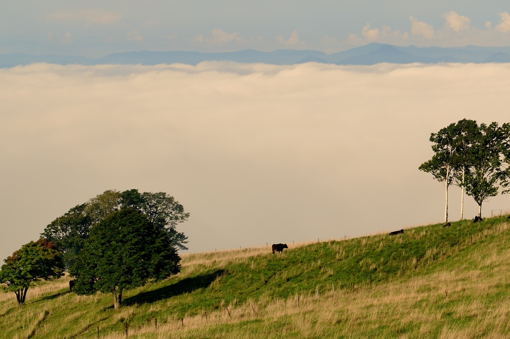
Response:
M510 124L496 122L478 124L463 119L431 133L432 158L419 170L431 173L445 186L445 222L448 222L448 187L454 183L463 188L481 206L489 197L510 192ZM506 188L506 189L505 189ZM462 207L461 207L462 218Z

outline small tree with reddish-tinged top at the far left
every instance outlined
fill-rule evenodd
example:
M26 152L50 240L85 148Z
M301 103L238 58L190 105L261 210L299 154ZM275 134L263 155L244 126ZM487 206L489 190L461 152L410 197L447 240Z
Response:
M18 306L25 303L29 287L41 279L56 279L64 275L62 253L47 239L24 244L4 260L0 269L0 283L4 292L14 292Z

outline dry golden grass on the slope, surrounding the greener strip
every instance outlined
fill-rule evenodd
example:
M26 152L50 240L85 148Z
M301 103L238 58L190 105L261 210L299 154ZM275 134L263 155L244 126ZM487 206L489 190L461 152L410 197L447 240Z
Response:
M428 230L409 230L411 238L423 238ZM497 241L483 241L493 236ZM270 293L262 294L260 298L247 301L222 301L216 310L207 310L184 317L169 316L158 319L156 330L154 319L148 318L145 323L131 325L129 323L130 338L160 339L160 338L503 338L510 337L510 230L508 223L498 224L496 228L488 228L482 234L474 234L471 245L470 239L457 247L448 249L451 255L447 261L440 261L443 249L432 247L427 249L420 263L437 264L426 266L422 271L416 270L411 275L396 275L388 283L362 284L352 289L324 287L319 296L315 291L300 293L299 295L279 298ZM341 239L342 240L342 239ZM348 256L363 253L365 248L377 248L384 243L394 244L402 238L388 238L382 235L363 237L359 239L359 248ZM289 244L290 250L316 243L305 242ZM331 243L337 260L346 257L342 242ZM319 249L318 249L319 250ZM461 250L463 250L461 252ZM457 253L458 255L454 255ZM274 256L278 256L275 254ZM281 255L280 255L281 256ZM176 281L190 276L193 272L200 272L204 267L228 267L233 263L244 263L252 270L262 270L264 257L273 257L270 247L243 248L222 250L217 252L196 253L184 255L182 259L183 272L175 277ZM436 259L434 259L436 258ZM382 259L382 258L381 258ZM370 269L379 260L369 260L360 256L359 269ZM320 260L306 263L305 267L321 267ZM257 267L255 267L257 266ZM430 267L430 268L427 268ZM321 274L333 274L330 267L323 267ZM36 301L43 296L55 294L66 288L68 277L56 282L43 283L29 290L30 300ZM215 290L222 284L221 277L217 277L210 285ZM235 293L235 291L233 291ZM27 297L29 298L29 296ZM185 293L179 302L193 302L193 294ZM298 302L299 300L299 302ZM131 304L123 307L119 312L110 314L109 326L116 326L116 330L102 330L101 339L120 339L125 332L119 330L125 319L133 319L140 312L158 314L165 307L175 307L172 298L150 305ZM106 302L108 304L109 301ZM72 311L69 305L75 305ZM82 311L80 305L91 305L97 312L93 315ZM73 322L75 330L68 337L94 337L94 326L101 324L104 328L108 324L101 323L105 317L105 296L76 296L65 294L47 308L50 313L62 312L60 321L62 329L65 323ZM0 294L0 314L10 316L10 310L15 307L14 294ZM101 310L101 307L103 310ZM143 308L145 307L145 308ZM22 324L16 333L16 338L27 338L38 328L44 307L24 312ZM19 317L18 315L17 317ZM37 337L54 337L51 333L60 333L59 329L50 328L46 324L40 325ZM60 326L60 325L59 325ZM121 327L121 326L120 326ZM104 331L104 333L103 333ZM67 332L68 333L68 332ZM1 334L0 334L0 337Z

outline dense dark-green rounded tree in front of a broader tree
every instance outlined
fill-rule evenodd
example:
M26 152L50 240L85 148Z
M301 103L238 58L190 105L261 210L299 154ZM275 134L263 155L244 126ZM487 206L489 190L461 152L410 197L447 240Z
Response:
M112 293L114 308L122 292L180 272L181 258L170 235L139 209L126 206L93 225L70 275L73 291Z

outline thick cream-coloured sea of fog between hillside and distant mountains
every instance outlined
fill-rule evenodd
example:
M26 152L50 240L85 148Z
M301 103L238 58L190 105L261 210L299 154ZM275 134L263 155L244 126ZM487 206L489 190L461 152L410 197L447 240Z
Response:
M0 69L0 258L108 189L174 196L187 252L441 222L430 133L508 122L509 86L510 64Z

